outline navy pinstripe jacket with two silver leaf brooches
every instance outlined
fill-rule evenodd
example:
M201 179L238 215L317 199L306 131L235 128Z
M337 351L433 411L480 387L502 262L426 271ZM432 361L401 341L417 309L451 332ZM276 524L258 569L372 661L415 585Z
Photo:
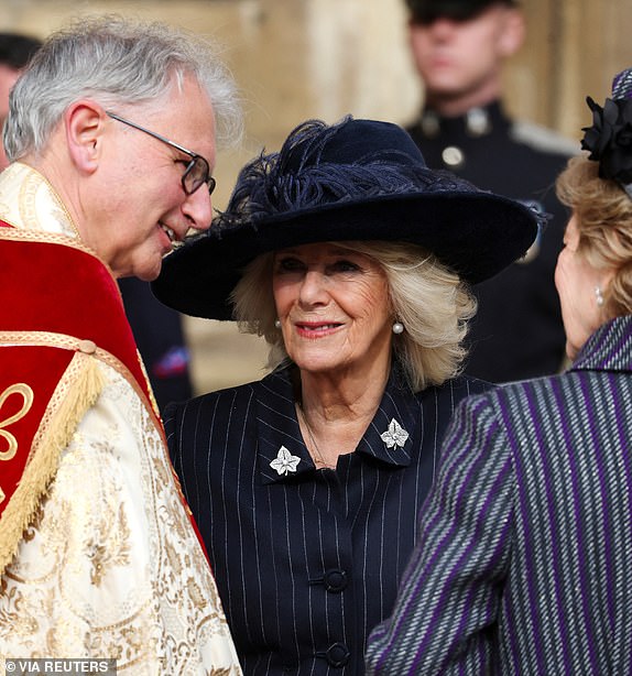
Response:
M336 470L314 468L286 369L165 412L248 676L363 674L366 639L393 608L443 432L458 401L488 386L461 378L412 394L396 381Z

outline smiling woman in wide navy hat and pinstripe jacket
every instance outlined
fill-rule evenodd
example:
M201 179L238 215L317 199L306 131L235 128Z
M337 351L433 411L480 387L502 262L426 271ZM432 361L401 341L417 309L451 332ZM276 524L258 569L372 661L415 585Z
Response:
M425 166L399 127L307 122L241 172L154 292L271 344L263 380L165 412L246 674L362 674L456 403L468 282L536 216ZM339 670L338 670L339 669Z

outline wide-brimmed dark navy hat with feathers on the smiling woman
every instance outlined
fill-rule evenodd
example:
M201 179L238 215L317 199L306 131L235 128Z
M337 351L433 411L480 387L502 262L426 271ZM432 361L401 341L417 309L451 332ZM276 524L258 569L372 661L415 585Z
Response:
M429 170L396 124L309 121L243 167L226 210L164 259L152 286L174 309L230 319L229 295L261 253L353 240L419 244L476 283L524 255L537 229L529 207Z

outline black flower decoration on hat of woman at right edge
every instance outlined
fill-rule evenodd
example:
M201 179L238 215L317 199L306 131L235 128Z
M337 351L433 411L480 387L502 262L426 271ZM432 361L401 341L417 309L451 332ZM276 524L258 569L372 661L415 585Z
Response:
M592 111L592 126L585 127L581 149L599 162L599 176L615 181L632 199L632 68L612 80L612 98L603 108L586 98Z

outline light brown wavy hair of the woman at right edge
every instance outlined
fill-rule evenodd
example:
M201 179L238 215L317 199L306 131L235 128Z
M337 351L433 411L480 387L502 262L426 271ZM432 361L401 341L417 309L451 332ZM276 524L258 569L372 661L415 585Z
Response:
M632 199L614 182L599 177L599 164L571 157L556 182L559 200L576 216L578 251L614 275L603 291L607 316L632 312Z

